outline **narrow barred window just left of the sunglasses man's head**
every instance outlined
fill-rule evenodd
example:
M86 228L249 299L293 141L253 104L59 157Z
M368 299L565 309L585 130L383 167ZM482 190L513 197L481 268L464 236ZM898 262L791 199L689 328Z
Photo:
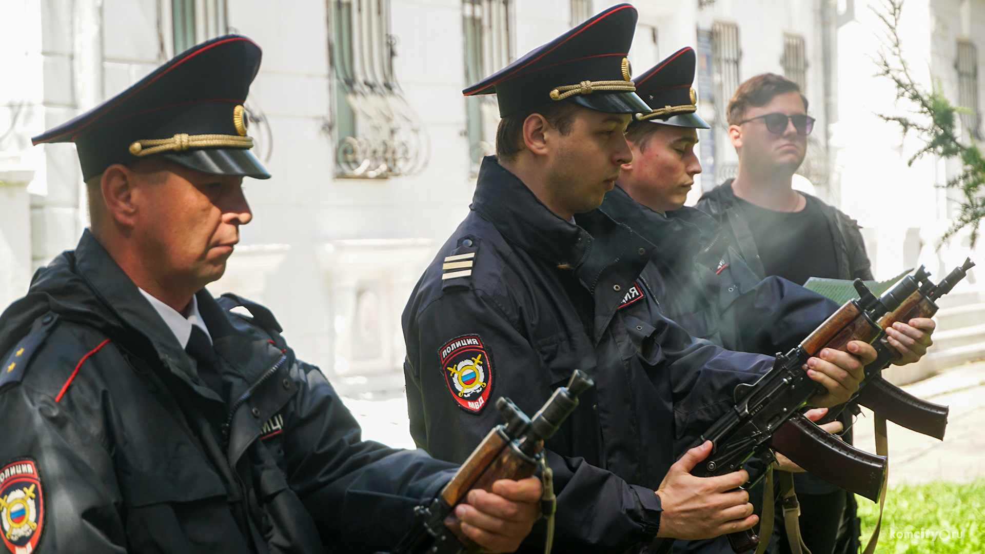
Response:
M739 61L742 49L739 47L739 27L734 23L715 22L711 27L711 66L714 84L715 103L715 144L728 145L725 130L728 129L728 105L732 95L742 83L739 79ZM730 154L726 154L730 153ZM736 160L724 160L734 154L731 149L716 149L715 179L722 182L735 177L739 171Z

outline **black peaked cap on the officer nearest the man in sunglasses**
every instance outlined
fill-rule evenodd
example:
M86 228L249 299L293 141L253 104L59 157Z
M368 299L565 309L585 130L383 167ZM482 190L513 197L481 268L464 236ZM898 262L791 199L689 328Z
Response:
M652 110L636 118L679 127L710 128L694 113L697 109L697 95L691 88L694 62L694 48L687 46L633 79L636 94Z

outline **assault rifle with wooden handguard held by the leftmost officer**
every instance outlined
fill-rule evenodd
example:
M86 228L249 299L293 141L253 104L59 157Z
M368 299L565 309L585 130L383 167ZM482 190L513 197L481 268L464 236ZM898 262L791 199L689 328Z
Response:
M414 526L393 554L479 552L481 547L462 532L462 523L454 516L455 507L465 502L473 489L489 491L499 479L524 479L538 467L545 484L541 508L548 518L546 551L550 553L554 536L554 491L551 468L544 460L544 441L554 436L561 422L578 405L578 395L593 384L588 376L575 370L567 386L558 387L533 418L528 418L508 398L496 400L496 409L506 423L490 431L436 498L415 508Z

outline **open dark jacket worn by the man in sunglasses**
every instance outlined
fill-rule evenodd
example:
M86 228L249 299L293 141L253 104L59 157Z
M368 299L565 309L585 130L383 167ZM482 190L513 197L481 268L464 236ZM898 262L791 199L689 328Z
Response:
M705 192L695 206L715 218L727 231L734 245L743 256L749 267L760 279L765 277L759 250L755 246L753 232L749 229L749 221L742 207L736 205L736 195L732 191L732 180L729 179L715 188ZM872 264L865 251L865 241L859 233L859 225L844 212L829 206L820 198L804 194L808 202L813 202L821 209L827 227L834 239L835 262L838 267L839 279L872 280Z

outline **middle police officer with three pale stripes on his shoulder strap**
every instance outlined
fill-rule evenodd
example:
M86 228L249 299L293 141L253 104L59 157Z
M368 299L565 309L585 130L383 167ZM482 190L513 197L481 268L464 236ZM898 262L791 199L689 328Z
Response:
M498 396L530 410L574 368L595 380L548 444L564 551L622 552L756 521L748 495L728 492L745 472L692 477L708 445L675 463L672 439L706 429L772 359L663 317L638 279L653 244L596 209L631 159L629 114L649 111L625 58L635 21L631 6L610 8L466 89L496 94L496 156L404 312L411 431L436 457L463 459L498 420ZM829 390L816 401L831 405L862 366L831 353L811 367Z

